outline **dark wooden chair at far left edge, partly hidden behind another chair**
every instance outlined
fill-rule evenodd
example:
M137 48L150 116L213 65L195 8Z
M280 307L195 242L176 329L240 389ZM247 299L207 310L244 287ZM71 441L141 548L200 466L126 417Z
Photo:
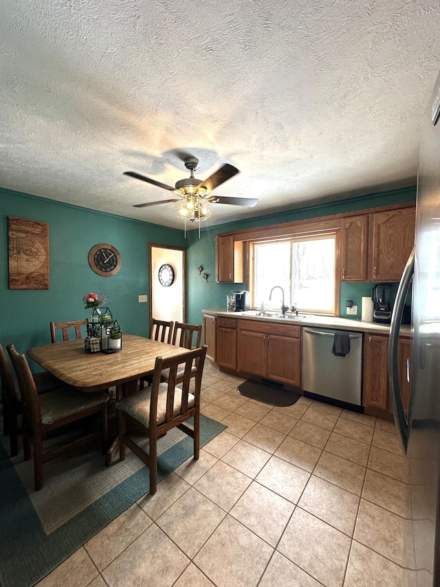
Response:
M7 345L8 352L15 350L14 345ZM56 378L47 371L32 375L37 392L44 394L57 387L65 385L63 381ZM21 414L21 394L17 378L14 376L10 363L6 357L5 350L0 344L0 381L1 398L3 402L3 435L9 436L11 456L19 453L19 415Z

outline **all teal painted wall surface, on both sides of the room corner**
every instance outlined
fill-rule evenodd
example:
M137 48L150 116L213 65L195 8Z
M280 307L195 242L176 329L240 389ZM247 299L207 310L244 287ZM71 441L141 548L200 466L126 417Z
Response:
M183 231L172 228L0 189L0 342L3 345L12 342L20 351L49 343L51 320L83 319L89 315L90 310L84 310L82 303L83 295L89 291L109 296L109 308L125 332L146 335L149 305L138 303L137 296L149 292L149 242L184 246L188 249L187 319L191 323L201 323L203 308L225 308L228 292L245 287L245 284L231 286L215 282L214 237L217 233L414 201L415 194L415 186L377 193L353 200L202 228L200 239L198 231L190 231L185 239ZM214 213L214 206L212 208ZM49 224L49 290L8 288L8 216L40 220ZM113 277L100 277L89 268L89 250L99 242L112 244L122 255L122 268ZM199 274L200 265L203 266L202 275L208 274L207 281ZM268 284L268 287L271 286L272 284ZM361 297L370 295L372 286L373 284L341 284L341 316L345 315L345 300L353 299L360 317ZM32 365L32 368L38 370L36 365Z

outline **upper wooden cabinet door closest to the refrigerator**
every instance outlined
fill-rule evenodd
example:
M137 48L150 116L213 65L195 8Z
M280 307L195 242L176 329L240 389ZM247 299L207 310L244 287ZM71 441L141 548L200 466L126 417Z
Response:
M414 246L415 209L375 212L371 240L373 281L399 281Z

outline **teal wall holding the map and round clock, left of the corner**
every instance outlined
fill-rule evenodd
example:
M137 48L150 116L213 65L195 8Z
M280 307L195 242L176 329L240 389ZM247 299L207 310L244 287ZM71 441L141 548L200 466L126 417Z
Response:
M25 352L50 343L49 323L81 320L91 316L82 298L88 292L109 296L109 308L121 328L148 335L148 303L137 296L148 294L148 243L186 246L184 233L157 224L137 222L99 212L0 189L0 342L14 343ZM8 288L8 216L49 224L50 289ZM122 268L112 277L96 275L89 267L92 246L115 246ZM33 370L38 370L32 365Z

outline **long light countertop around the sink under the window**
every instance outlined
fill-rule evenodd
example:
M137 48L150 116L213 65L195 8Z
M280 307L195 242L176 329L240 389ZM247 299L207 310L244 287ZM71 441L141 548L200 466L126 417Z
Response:
M223 316L229 318L240 318L245 320L259 320L283 324L296 324L298 326L317 326L318 328L335 328L336 330L357 330L358 332L371 332L372 334L388 334L390 332L389 324L381 324L377 322L364 322L358 319L338 318L334 316L301 314L301 312L301 319L285 319L277 317L259 316L257 315L258 310L248 310L247 312L228 312L228 310L225 310L225 308L205 308L201 311L203 312L203 314L209 314L210 316ZM292 312L287 312L287 314L292 315ZM409 324L401 325L400 335L404 337L410 337Z

